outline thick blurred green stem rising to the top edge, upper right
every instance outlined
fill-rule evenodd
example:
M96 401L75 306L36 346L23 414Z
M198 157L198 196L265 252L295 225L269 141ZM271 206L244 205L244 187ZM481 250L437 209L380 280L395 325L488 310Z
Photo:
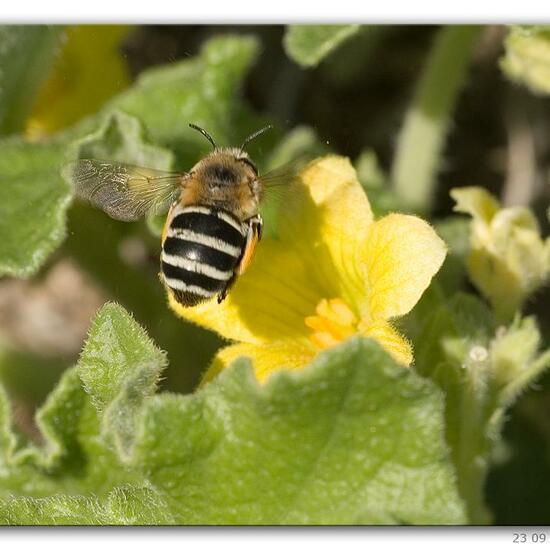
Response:
M428 213L432 207L450 115L482 29L472 25L443 27L420 75L391 171L395 193L407 209Z

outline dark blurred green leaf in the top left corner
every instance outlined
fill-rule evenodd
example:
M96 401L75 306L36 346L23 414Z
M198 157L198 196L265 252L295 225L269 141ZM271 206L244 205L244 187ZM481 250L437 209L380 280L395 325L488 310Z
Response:
M23 128L63 35L60 26L0 26L0 134Z

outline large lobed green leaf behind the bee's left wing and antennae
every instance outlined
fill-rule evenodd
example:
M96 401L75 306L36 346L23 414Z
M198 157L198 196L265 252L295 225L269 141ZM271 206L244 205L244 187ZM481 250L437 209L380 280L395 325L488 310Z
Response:
M170 166L175 154L189 169L208 145L189 122L206 127L220 144L256 130L263 119L241 105L238 94L257 50L251 37L216 37L196 58L144 72L98 115L49 141L0 142L0 276L36 273L65 237L71 188L60 170L77 154L158 168Z

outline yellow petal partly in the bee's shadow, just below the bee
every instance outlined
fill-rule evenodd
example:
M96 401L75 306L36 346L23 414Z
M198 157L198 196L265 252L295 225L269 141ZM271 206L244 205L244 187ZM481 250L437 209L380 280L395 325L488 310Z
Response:
M300 258L272 239L258 245L247 271L238 277L227 298L183 307L172 297L180 317L218 332L224 338L259 344L285 338L307 339L304 319L321 299Z

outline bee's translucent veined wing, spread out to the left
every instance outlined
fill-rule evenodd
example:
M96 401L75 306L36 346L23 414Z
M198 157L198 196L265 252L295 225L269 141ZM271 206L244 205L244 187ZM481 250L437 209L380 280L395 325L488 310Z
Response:
M116 220L134 221L166 209L189 178L185 172L164 172L120 162L80 159L67 164L63 176L76 194Z

